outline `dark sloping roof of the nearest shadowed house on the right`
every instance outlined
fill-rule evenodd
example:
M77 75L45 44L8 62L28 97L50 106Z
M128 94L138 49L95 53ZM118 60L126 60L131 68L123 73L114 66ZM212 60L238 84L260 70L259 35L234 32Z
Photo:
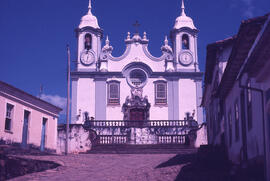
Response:
M267 18L268 15L265 15L242 21L227 67L217 91L220 98L226 97L233 87L238 72Z

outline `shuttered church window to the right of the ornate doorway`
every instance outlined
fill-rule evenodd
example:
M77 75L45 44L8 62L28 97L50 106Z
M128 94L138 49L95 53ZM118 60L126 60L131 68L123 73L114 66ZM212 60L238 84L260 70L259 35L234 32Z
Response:
M155 104L167 105L167 82L155 82Z

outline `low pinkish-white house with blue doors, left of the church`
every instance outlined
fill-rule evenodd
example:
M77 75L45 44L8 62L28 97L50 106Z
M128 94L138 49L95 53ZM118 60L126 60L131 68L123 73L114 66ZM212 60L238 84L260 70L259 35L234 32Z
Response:
M0 141L56 151L61 110L0 81Z

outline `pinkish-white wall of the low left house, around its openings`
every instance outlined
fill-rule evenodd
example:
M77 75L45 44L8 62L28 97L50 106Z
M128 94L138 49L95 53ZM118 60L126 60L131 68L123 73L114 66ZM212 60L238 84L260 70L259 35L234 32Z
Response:
M13 116L11 121L11 130L5 130L5 118L6 118L6 104L9 103L14 106ZM8 143L21 143L23 132L23 120L24 110L30 112L29 126L28 126L28 139L27 144L32 144L36 147L40 147L41 144L41 129L43 118L47 118L46 125L46 141L45 148L50 150L56 150L56 137L57 137L57 116L41 111L39 107L28 103L19 102L19 99L9 99L6 96L0 94L0 139L7 141Z

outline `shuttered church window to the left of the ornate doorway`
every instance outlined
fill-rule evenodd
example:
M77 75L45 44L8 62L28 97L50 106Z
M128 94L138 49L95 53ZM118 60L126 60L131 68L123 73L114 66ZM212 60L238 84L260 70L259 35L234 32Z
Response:
M118 81L108 82L108 104L120 104L120 82Z

